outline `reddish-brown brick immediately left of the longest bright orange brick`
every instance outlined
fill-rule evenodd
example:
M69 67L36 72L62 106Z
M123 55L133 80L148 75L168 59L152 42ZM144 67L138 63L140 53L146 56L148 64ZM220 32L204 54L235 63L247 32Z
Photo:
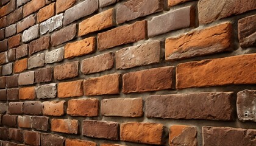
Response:
M172 89L173 71L174 66L168 66L124 74L123 92L127 94L131 92L147 92Z

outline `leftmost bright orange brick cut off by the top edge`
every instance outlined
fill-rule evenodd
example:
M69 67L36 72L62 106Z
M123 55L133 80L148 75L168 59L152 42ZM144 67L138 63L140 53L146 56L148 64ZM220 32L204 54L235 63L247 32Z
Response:
M25 4L23 7L24 17L44 7L44 5L46 4L45 2L46 2L45 0L32 0L30 2L27 2L27 4Z

